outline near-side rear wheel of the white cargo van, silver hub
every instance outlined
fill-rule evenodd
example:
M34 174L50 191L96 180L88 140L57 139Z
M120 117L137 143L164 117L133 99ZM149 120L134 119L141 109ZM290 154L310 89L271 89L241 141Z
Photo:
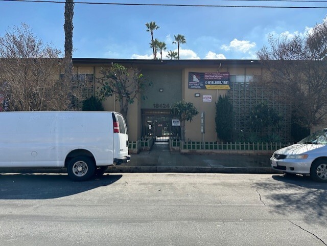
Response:
M87 156L77 156L69 160L67 165L67 173L72 180L86 181L96 170L96 165L92 159Z

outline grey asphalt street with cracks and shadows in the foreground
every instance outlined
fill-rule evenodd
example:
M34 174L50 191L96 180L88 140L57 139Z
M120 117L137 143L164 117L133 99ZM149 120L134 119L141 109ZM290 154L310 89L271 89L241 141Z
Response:
M327 184L281 174L0 174L10 245L326 245Z

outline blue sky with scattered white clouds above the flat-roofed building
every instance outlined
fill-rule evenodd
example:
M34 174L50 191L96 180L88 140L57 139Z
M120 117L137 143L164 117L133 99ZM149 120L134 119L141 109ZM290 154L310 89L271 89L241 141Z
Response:
M226 0L81 0L79 2L315 6L327 2L288 3ZM74 58L151 59L151 36L146 23L160 27L154 37L165 41L168 50L174 35L185 36L180 59L256 59L255 52L267 45L267 35L305 35L322 23L327 9L171 7L75 4ZM64 49L64 4L0 1L0 36L9 27L28 24L42 41ZM166 58L164 54L163 59Z

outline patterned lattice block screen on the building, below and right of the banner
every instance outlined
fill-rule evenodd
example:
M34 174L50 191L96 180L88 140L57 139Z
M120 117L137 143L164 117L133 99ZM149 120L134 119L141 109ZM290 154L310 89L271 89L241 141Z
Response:
M244 78L244 77L243 77ZM256 86L251 78L245 78L242 82L239 76L230 76L230 90L228 98L233 105L234 128L236 132L250 133L249 116L251 110L260 103L275 109L282 117L281 124L277 132L272 132L268 127L264 130L264 135L277 134L282 142L291 142L291 110L288 105L278 103L276 98L281 97L282 93L272 92Z

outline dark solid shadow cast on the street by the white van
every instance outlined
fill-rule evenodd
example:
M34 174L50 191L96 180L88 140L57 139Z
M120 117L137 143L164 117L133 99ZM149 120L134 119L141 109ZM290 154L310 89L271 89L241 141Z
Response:
M0 174L1 199L52 199L75 195L120 180L123 175L103 175L85 182L74 182L66 174Z

